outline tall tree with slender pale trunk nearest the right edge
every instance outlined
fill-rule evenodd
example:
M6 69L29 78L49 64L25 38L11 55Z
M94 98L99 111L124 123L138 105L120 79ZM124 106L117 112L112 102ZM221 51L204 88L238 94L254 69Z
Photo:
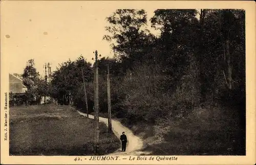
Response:
M236 13L235 13L236 12ZM237 14L237 15L236 15ZM232 54L236 52L236 46L230 49L233 44L244 44L244 22L245 15L242 10L218 10L214 11L211 16L215 16L219 24L217 29L220 33L221 44L223 48L223 76L226 86L229 90L234 88L234 81L232 78L233 62ZM240 28L241 27L241 28ZM240 35L239 35L240 34ZM233 42L235 41L235 42ZM233 45L234 46L234 45ZM241 48L241 46L237 47ZM232 51L235 50L235 51ZM242 50L240 50L242 51Z

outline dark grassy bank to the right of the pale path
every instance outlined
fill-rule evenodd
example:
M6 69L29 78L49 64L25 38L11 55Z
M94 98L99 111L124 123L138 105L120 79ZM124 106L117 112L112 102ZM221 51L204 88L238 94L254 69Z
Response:
M167 116L155 125L126 126L151 155L245 155L245 128L234 110L195 109L178 120Z

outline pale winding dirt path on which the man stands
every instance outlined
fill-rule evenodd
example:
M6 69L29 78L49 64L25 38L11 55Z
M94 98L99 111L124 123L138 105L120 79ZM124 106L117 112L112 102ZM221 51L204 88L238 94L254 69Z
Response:
M87 116L86 113L82 113L80 111L78 111L78 113L83 116ZM89 114L89 118L94 119L94 116ZM99 122L102 122L106 126L108 126L107 118L99 117ZM127 142L125 152L120 152L121 148L119 148L115 152L108 154L108 155L142 155L142 154L144 155L144 154L146 154L145 152L141 151L143 148L142 139L139 138L138 136L135 136L129 128L124 127L119 121L112 119L112 131L118 137L118 139L120 138L122 132L125 132L128 142ZM129 143L129 142L131 142L131 143Z

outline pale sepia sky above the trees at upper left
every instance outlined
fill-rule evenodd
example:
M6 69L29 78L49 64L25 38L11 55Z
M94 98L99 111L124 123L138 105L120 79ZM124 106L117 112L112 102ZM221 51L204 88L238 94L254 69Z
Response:
M29 59L43 75L48 62L55 70L80 55L93 62L95 50L113 57L110 43L102 37L108 34L105 18L118 8L108 2L9 1L1 8L1 55L8 56L9 73L22 74ZM155 9L144 9L151 18Z

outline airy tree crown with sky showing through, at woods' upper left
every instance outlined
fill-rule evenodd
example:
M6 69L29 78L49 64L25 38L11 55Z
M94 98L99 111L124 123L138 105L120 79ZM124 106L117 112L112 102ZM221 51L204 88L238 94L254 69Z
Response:
M153 37L145 29L147 22L145 10L118 9L106 19L111 26L105 29L111 35L104 35L103 39L112 42L112 49L118 54L119 59L140 61L148 51L148 43Z

